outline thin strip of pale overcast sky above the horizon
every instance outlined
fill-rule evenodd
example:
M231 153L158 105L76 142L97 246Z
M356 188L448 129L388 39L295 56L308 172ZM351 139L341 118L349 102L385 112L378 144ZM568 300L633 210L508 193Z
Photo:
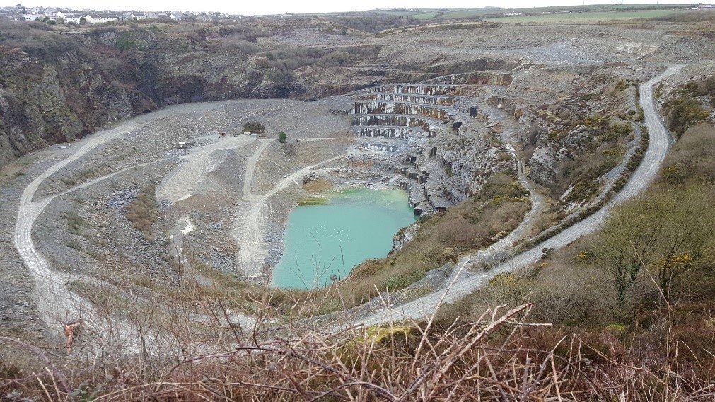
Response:
M702 0L699 0L702 1ZM20 1L17 1L20 2ZM661 4L693 4L694 0L661 0ZM702 1L708 2L708 1ZM6 3L9 4L8 1ZM586 0L586 4L614 4L620 0ZM17 3L15 3L17 4ZM429 9L429 8L480 8L500 6L522 8L536 6L573 6L584 4L581 0L359 0L359 1L300 1L300 0L30 0L24 6L58 6L73 9L111 9L144 11L225 11L231 14L284 14L330 11L360 11L371 9ZM623 4L656 4L656 0L624 0Z

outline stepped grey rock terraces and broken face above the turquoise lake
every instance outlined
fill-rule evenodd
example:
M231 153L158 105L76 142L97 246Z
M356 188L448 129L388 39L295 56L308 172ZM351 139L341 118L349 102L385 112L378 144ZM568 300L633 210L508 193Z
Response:
M443 211L475 195L495 173L515 168L511 158L500 158L506 149L485 135L484 124L476 128L486 117L475 106L489 101L478 96L485 87L512 81L511 74L471 72L360 91L353 95L354 131L360 137L407 142L407 151L392 158L388 169L402 177L400 185L416 213ZM396 238L393 246L403 242Z

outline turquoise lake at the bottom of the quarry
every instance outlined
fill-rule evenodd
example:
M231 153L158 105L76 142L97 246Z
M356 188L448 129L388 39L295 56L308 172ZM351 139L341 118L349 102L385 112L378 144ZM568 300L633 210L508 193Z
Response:
M316 288L329 284L330 275L345 278L355 265L388 255L393 235L416 219L400 190L355 189L329 197L326 205L290 212L273 286Z

